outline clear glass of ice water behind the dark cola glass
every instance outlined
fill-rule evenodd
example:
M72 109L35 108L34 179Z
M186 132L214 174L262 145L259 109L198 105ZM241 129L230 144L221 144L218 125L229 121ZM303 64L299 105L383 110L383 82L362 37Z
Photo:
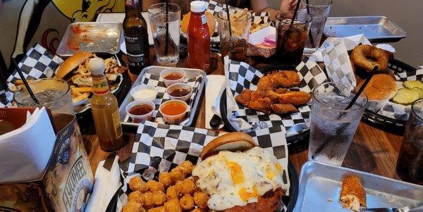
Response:
M312 16L312 25L307 42L305 44L304 54L313 54L320 45L321 34L324 30L326 18L331 10L332 0L302 0L301 11Z

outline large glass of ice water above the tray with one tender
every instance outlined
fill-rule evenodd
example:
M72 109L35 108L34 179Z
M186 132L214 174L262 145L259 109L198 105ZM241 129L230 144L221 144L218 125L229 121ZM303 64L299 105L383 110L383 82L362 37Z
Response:
M368 103L366 94L362 92L355 104L345 110L353 96L354 87L339 82L325 82L314 87L309 161L341 166Z

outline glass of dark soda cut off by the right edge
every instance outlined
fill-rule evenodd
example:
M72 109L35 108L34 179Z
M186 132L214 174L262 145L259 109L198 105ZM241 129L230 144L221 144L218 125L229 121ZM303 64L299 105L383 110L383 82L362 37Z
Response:
M423 99L411 106L396 172L401 180L423 185Z

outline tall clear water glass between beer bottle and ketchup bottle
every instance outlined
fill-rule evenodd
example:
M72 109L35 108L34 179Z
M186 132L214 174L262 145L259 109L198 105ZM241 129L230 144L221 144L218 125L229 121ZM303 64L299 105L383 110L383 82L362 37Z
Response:
M175 67L179 61L180 7L159 3L147 8L154 49L160 66Z

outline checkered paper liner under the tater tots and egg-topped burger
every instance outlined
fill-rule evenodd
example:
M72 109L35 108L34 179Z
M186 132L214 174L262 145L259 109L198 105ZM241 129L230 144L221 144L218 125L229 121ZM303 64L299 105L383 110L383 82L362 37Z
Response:
M248 132L249 135L266 151L274 154L283 167L283 182L290 186L288 176L288 147L285 130L281 126ZM165 125L146 121L140 124L133 144L132 154L123 171L123 187L118 191L121 205L127 201L128 182L130 178L141 175L145 180L157 179L159 172L169 171L183 161L200 163L203 147L219 134L195 127ZM287 189L287 195L288 194ZM119 204L118 204L119 205ZM117 210L119 211L119 210ZM283 206L281 211L286 211Z

